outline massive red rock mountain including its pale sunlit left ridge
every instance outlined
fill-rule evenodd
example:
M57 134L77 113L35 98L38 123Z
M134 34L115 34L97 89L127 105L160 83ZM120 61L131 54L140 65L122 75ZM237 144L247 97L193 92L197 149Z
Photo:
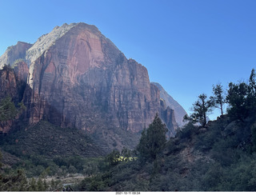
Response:
M9 56L10 49L19 48L13 46L0 58L1 62L11 59L16 63L14 78L6 80L7 74L2 72L5 79L0 89L16 93L17 102L24 102L21 120L33 124L43 119L84 129L104 142L106 149L137 145L136 133L147 127L156 113L170 129L168 135L174 135L174 110L160 105L159 89L150 84L146 68L126 59L95 26L57 26L33 46L22 46L21 52Z

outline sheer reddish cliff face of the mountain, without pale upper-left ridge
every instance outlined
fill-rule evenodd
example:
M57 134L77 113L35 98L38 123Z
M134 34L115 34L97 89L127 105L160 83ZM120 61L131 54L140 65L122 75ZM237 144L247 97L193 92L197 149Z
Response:
M28 82L30 123L47 119L90 132L102 125L138 132L160 111L159 90L146 68L82 23L30 65Z

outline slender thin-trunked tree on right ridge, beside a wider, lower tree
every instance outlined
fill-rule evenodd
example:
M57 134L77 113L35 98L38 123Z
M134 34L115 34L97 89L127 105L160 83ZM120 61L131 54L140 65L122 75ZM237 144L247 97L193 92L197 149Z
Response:
M224 96L223 86L222 84L218 84L213 86L214 96L210 97L214 102L214 107L221 109L221 113L223 115L223 105L226 102L226 98Z

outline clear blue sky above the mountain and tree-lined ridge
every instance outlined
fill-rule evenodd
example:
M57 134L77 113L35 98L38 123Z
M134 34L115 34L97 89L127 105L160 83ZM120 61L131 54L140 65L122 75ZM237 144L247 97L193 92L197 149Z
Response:
M199 94L247 81L256 67L255 0L0 0L0 10L0 55L55 26L86 22L146 66L150 82L187 113Z

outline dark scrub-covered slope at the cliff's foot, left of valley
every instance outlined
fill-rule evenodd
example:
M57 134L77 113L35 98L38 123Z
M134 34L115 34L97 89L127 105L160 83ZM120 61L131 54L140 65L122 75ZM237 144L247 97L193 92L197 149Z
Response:
M1 145L3 150L18 157L98 157L106 154L84 131L60 128L47 121L40 121L27 129L2 137Z

